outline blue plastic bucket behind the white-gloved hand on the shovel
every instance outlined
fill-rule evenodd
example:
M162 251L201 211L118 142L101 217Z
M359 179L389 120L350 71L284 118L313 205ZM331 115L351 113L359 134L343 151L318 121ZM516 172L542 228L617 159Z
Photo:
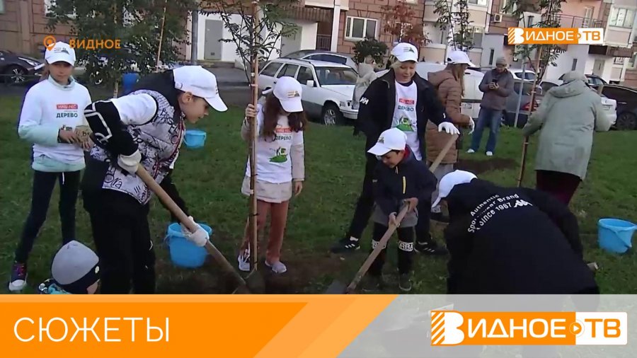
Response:
M201 227L212 236L212 228L205 224ZM180 224L170 224L166 232L166 241L171 252L171 260L180 267L201 267L206 261L207 251L188 241L181 233Z

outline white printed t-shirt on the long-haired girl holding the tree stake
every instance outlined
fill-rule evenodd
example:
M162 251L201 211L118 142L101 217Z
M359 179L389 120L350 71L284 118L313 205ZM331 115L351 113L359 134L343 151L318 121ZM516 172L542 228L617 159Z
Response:
M268 183L292 182L292 160L289 156L293 145L303 144L303 131L294 132L289 127L287 116L280 115L275 129L276 138L261 135L263 128L263 110L257 108L256 171L257 180ZM246 163L246 176L250 176L250 161Z

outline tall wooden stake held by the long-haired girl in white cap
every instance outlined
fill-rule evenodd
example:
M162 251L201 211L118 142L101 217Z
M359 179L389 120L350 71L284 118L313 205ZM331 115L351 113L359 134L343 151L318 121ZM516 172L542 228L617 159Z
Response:
M252 86L252 105L254 108L257 106L258 96L259 96L259 88L258 88L258 73L259 73L259 56L258 51L258 35L256 31L258 31L258 22L259 22L259 2L252 1L252 14L253 14L253 51L251 58L252 65L252 74L251 74L251 86ZM257 227L257 199L256 199L256 142L257 142L257 119L256 117L250 118L250 149L249 149L249 158L250 158L250 224L249 224L249 233L250 233L250 270L255 272L258 267L258 227Z

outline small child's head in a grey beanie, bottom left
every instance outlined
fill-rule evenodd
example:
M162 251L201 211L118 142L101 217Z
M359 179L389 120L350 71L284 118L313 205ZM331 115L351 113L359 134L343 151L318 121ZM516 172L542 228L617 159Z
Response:
M100 279L99 258L84 244L71 241L55 254L51 274L65 291L86 294L86 289Z

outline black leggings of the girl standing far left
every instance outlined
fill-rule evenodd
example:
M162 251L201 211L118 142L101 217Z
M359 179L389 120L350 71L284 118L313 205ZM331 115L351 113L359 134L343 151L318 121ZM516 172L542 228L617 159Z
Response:
M59 220L62 224L62 244L76 239L75 204L79 191L80 171L64 173L34 171L31 209L16 249L16 262L26 263L28 260L35 238L47 219L56 181L59 181Z

